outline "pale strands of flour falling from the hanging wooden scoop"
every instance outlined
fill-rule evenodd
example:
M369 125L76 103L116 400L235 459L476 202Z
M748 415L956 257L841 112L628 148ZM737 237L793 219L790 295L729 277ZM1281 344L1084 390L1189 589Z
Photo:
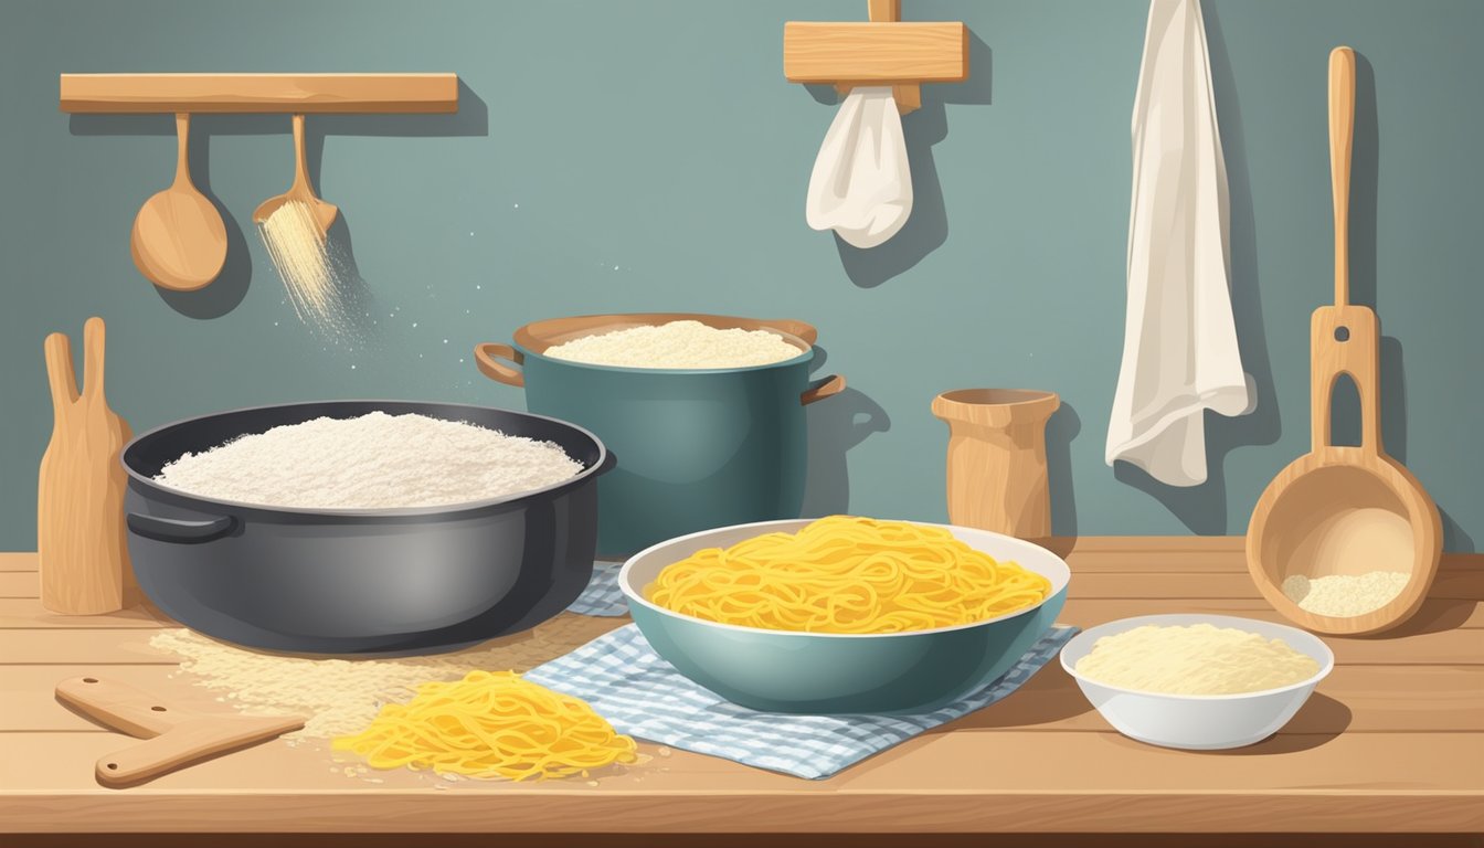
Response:
M263 242L300 319L322 330L341 330L347 324L350 281L335 261L313 208L303 200L285 202L263 221Z

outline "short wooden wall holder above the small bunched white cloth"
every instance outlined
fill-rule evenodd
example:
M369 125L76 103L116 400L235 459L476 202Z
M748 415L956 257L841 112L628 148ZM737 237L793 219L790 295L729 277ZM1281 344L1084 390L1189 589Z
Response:
M969 28L962 22L902 22L901 0L868 0L870 22L784 24L784 77L830 83L890 85L905 114L922 105L920 83L969 79Z

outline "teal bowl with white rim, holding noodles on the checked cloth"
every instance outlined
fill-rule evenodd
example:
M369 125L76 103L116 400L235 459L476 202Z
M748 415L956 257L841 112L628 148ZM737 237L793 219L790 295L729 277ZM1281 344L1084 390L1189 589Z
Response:
M724 548L809 518L738 524L692 533L635 554L619 585L644 639L677 671L717 695L772 713L916 713L948 704L1003 676L1051 630L1067 600L1071 572L1030 542L941 526L996 560L1051 581L1040 604L974 624L910 633L792 633L705 621L656 606L644 588L660 569L702 548Z

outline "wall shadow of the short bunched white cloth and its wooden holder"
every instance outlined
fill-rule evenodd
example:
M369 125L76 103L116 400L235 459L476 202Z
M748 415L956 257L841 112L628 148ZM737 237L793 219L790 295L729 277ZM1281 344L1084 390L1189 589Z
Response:
M991 97L993 52L969 33L969 79L951 85L925 85L922 108L902 117L907 160L913 174L913 211L901 232L883 245L861 249L835 236L840 264L850 282L861 288L876 288L938 249L948 241L948 212L944 206L938 166L932 147L948 137L945 104L988 105ZM806 86L816 101L838 102L833 86Z

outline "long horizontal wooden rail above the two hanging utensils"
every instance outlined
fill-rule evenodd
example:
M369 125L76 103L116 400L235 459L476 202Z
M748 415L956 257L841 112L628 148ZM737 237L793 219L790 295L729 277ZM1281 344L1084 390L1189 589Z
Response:
M459 74L62 74L77 113L448 113Z

